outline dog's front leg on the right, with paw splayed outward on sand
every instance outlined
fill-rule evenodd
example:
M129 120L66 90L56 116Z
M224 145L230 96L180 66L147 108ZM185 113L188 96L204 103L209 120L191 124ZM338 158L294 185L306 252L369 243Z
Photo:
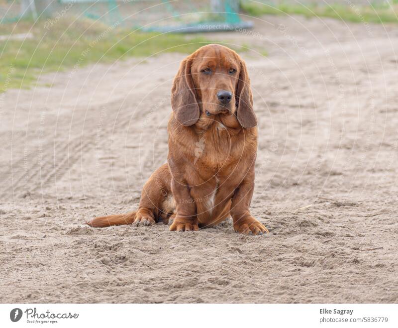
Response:
M232 197L230 214L233 220L233 227L236 232L244 234L268 233L268 229L250 214L249 207L253 196L253 190L254 166L245 176L238 188L236 188Z

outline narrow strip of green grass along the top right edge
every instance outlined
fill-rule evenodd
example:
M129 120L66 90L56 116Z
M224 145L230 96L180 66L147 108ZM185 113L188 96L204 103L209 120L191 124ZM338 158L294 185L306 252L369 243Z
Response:
M394 0L396 1L396 0ZM397 2L397 1L396 1ZM394 2L394 3L396 3ZM355 3L353 1L353 3ZM252 16L261 16L265 14L283 15L298 14L305 17L330 17L352 22L367 23L398 23L398 6L393 5L374 5L373 7L355 4L349 5L316 5L308 4L306 6L299 4L279 3L276 5L261 4L250 0L241 1L242 9Z

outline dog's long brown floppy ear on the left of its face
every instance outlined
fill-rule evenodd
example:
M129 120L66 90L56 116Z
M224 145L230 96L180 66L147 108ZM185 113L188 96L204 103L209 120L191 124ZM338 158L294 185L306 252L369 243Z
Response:
M171 107L174 110L174 115L177 121L185 126L195 124L200 114L191 75L191 63L190 57L181 62L171 89Z

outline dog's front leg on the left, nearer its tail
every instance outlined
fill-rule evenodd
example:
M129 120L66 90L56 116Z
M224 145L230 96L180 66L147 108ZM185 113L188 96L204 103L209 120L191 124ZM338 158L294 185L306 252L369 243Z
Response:
M172 174L171 190L176 201L176 217L170 225L171 231L198 230L196 203L193 201L190 188L183 177Z

